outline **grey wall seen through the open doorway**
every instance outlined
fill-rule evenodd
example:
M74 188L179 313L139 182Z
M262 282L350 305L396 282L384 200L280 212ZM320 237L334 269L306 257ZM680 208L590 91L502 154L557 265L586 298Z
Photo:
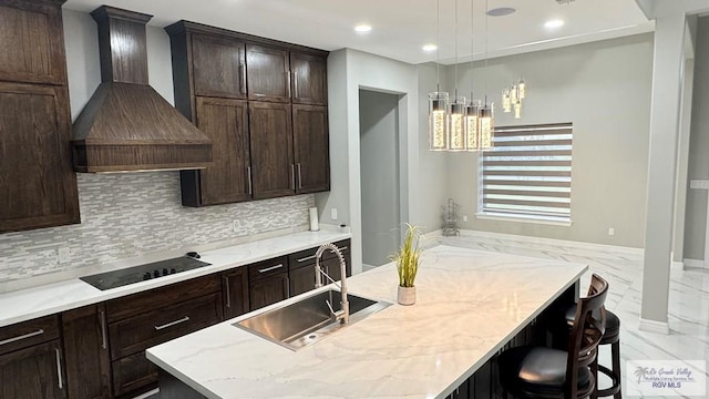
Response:
M381 266L399 248L399 98L359 92L362 263Z

